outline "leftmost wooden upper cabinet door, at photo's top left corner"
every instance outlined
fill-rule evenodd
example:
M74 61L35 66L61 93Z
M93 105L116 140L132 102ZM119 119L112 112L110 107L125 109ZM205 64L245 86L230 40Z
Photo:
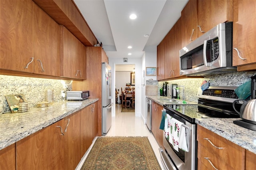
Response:
M0 68L34 72L33 9L30 0L0 0ZM27 68L26 65L28 65Z

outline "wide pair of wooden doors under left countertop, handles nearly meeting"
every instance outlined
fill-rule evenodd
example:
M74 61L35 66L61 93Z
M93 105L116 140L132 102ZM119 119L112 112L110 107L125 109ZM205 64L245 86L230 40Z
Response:
M16 142L17 170L75 169L81 159L80 130L78 111Z

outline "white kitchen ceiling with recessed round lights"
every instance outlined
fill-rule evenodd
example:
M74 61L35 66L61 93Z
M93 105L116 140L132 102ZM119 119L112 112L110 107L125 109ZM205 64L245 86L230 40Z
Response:
M74 0L109 58L140 58L157 46L188 0ZM130 14L136 14L130 20ZM144 35L149 37L145 38ZM132 49L127 47L131 45ZM132 53L132 55L128 55Z

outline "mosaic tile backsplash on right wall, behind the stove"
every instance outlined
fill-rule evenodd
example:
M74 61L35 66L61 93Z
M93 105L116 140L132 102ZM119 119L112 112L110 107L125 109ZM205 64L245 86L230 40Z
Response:
M160 95L160 88L163 87L163 82L176 83L178 85L184 86L185 100L198 102L196 97L198 88L200 87L202 81L210 81L210 86L240 86L251 79L252 76L256 75L254 71L243 71L236 73L225 73L208 75L204 78L187 78L171 81L160 81L158 82L158 95ZM146 81L146 85L153 84L154 82ZM180 96L182 96L182 87L180 88Z

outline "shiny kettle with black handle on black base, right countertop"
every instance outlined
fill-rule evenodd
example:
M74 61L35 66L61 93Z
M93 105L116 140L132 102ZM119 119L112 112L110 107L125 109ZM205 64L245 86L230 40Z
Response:
M251 79L251 99L249 101L238 99L233 102L234 110L240 115L240 118L242 118L242 120L233 121L233 123L240 127L256 130L256 75L252 76ZM235 105L236 103L240 103L240 101L243 103L239 112Z

